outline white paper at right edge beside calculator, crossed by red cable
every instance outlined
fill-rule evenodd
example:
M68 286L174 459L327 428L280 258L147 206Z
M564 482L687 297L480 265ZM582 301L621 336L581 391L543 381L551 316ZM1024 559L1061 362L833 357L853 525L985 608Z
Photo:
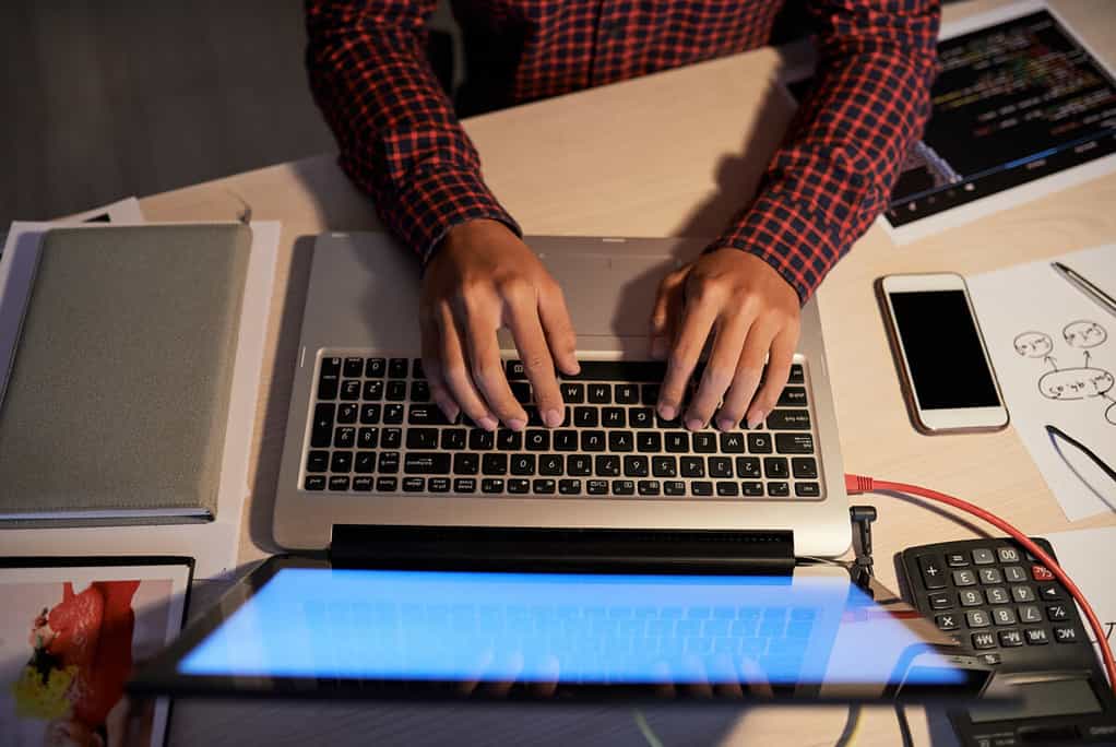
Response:
M1061 569L1074 580L1089 606L1097 614L1108 644L1116 643L1116 583L1113 583L1113 564L1116 563L1116 527L1076 529L1043 535L1054 545ZM1085 616L1081 616L1084 622ZM1086 623L1085 633L1096 645L1096 636ZM1097 655L1100 647L1097 648Z

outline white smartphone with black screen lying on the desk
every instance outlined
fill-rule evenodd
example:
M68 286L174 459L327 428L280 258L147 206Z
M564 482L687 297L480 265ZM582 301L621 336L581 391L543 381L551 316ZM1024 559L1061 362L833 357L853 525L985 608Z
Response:
M923 433L997 431L1008 424L1000 384L965 279L953 272L876 280L903 399Z

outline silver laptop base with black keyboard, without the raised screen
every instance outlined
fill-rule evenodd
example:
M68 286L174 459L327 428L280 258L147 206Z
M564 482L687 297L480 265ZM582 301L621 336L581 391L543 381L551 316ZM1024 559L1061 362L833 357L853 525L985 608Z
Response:
M318 238L275 506L290 549L366 525L722 529L833 557L850 542L821 324L802 309L790 382L754 430L691 433L655 414L648 356L658 281L695 239L529 237L566 294L581 373L561 377L566 422L546 429L510 337L531 422L489 433L449 422L420 361L419 265L384 233Z

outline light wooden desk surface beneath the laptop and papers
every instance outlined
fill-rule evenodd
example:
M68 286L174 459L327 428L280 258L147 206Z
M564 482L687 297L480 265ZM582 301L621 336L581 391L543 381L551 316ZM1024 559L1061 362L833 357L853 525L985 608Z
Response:
M1003 3L981 0L951 6L946 19L999 4ZM1110 0L1052 4L1116 66L1116 8ZM527 233L713 236L754 189L789 119L790 105L772 84L789 59L772 49L758 50L477 117L465 128L482 154L485 180ZM271 375L261 382L267 405L258 416L253 495L246 509L240 557L247 563L276 549L270 539L270 496L312 237L326 230L377 228L377 220L333 155L146 198L142 204L150 220L215 220L234 218L242 210L241 200L251 205L254 218L283 223L276 286L282 313L271 325ZM917 434L903 406L872 290L873 279L888 272L980 272L1113 241L1114 204L1116 178L1108 176L902 249L882 229L870 230L819 291L845 467L966 497L1026 531L1116 525L1113 515L1070 525L1011 429L988 435ZM927 510L887 497L866 501L879 509L878 575L892 586L895 569L888 558L903 547L984 531L934 507ZM452 728L431 727L430 719L411 715L410 709L180 703L176 714L174 734L183 743L232 741L246 730L260 740L263 735L291 741L344 740L368 736L369 730L405 741L436 740L439 728L446 729L441 736L461 740ZM608 744L642 744L627 714L613 722L615 729L600 726L614 716L599 717L605 721L593 721L599 727L594 732L605 735ZM752 709L731 729L730 741L833 744L844 717L844 709L835 708ZM417 731L388 726L397 718L416 721ZM242 728L228 730L230 721ZM918 714L912 721L918 744L929 744L926 719ZM520 736L536 744L560 743L562 736L584 740L587 722L570 719L558 727L549 718L528 718L523 724L531 731ZM656 725L664 724L665 731L672 722ZM683 741L698 739L692 730L677 734ZM859 744L897 741L894 714L869 709ZM934 744L942 743L935 738Z

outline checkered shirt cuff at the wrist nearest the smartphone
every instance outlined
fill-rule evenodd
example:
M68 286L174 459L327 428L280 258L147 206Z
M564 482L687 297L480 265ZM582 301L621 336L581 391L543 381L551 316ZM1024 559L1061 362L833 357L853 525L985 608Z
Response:
M840 257L840 229L805 199L761 194L732 229L705 248L756 255L790 284L805 304Z

